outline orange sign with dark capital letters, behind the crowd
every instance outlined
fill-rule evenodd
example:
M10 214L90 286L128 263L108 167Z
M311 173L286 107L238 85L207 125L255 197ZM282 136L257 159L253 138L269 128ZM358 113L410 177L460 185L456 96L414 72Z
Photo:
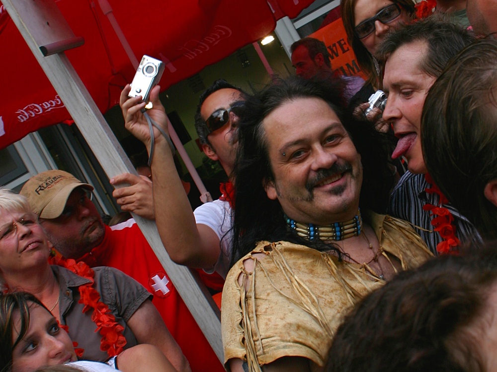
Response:
M353 76L357 75L363 79L367 76L362 72L357 64L354 51L347 43L347 34L343 28L341 18L320 28L309 37L322 40L331 56L331 67L338 70L342 75Z

